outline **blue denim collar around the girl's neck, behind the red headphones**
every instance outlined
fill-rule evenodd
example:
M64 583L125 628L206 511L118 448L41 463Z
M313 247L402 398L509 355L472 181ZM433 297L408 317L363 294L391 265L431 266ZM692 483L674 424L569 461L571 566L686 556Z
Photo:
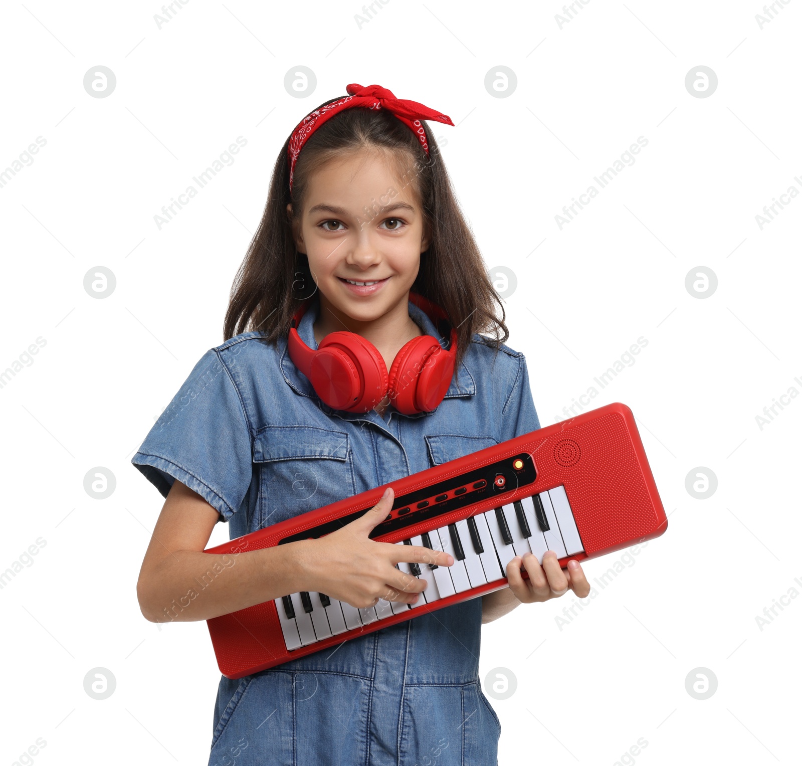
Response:
M444 349L448 348L448 339L444 338L443 334L441 334L437 328L435 327L434 322L427 316L426 312L420 309L418 306L415 306L414 303L409 302L409 315L413 322L423 330L424 334L431 335L434 338L439 340L440 346ZM306 311L306 314L303 315L301 322L298 324L298 334L301 336L303 342L310 348L317 349L318 343L314 339L314 321L318 318L318 312L320 310L320 302L315 301L309 309ZM318 395L315 393L312 384L310 383L309 379L304 375L301 371L298 371L298 368L292 363L290 359L290 355L287 351L287 344L284 342L282 348L282 355L279 360L279 364L282 367L282 375L284 375L284 379L290 388L295 391L296 394L302 396L308 396L310 399L315 399L318 402L318 406L321 408L322 411L326 412L328 415L338 415L339 417L345 419L373 419L371 415L376 415L375 412L371 411L366 413L360 412L346 412L342 410L334 410L329 407L327 404L323 403L319 398ZM460 397L468 397L476 395L476 383L474 382L473 376L471 375L470 371L468 371L468 367L465 366L465 363L461 363L459 369L456 371L456 375L452 378L451 385L448 387L448 391L446 391L445 399L456 399ZM395 407L392 407L393 414L395 415L402 415L403 413L395 410ZM436 409L434 410L437 411ZM418 418L423 417L423 415L431 415L432 413L425 413L421 412L418 415L404 415L404 417L409 418ZM379 418L379 415L376 415L376 418ZM379 418L379 421L381 419Z

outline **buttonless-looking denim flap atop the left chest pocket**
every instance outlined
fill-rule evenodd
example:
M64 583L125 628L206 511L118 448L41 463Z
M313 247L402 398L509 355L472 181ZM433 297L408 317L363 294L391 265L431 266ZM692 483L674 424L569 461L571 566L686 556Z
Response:
M348 460L348 434L314 426L265 426L253 438L253 462Z

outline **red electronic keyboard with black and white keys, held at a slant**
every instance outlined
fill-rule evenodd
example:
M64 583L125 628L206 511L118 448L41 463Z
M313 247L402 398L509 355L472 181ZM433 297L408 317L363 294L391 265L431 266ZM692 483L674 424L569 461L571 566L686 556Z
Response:
M452 566L400 563L427 581L415 605L380 599L357 609L326 594L294 593L208 620L229 679L265 670L395 622L507 586L508 561L547 550L560 565L658 537L666 513L625 404L577 415L495 447L303 513L209 548L236 554L322 537L361 516L387 486L392 512L370 537L451 553Z

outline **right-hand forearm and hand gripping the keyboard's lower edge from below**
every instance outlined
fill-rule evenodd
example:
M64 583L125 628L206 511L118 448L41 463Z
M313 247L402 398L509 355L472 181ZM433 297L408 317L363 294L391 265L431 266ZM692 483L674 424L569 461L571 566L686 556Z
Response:
M520 568L529 572L529 579L520 576ZM549 601L559 598L570 588L579 598L590 593L590 585L578 561L569 561L566 569L560 569L557 553L546 551L543 565L533 553L516 556L507 565L508 588L494 590L482 596L482 623L492 622L508 614L519 604Z

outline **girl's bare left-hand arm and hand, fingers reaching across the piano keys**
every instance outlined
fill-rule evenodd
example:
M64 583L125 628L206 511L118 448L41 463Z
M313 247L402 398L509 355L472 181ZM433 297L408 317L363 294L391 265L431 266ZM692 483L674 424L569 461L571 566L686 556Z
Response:
M217 510L175 480L136 583L140 610L151 622L207 620L303 590L357 607L373 606L375 598L415 603L426 582L395 564L449 566L454 559L415 545L371 540L368 533L387 516L392 498L388 490L362 517L319 540L213 554L203 549Z

